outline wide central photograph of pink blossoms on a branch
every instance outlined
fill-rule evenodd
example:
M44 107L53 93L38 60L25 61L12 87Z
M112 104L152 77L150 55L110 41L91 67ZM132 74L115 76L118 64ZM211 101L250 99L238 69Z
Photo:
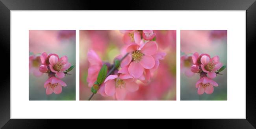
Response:
M80 30L80 100L176 100L176 30Z

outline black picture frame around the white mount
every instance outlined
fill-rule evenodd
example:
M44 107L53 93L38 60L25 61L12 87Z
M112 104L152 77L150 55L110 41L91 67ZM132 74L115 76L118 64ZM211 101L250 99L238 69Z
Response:
M0 0L0 44L2 50L2 82L0 86L0 127L3 128L48 128L56 120L10 119L10 10L246 10L246 67L255 68L253 44L256 43L256 2L255 0ZM10 55L10 58L7 56ZM247 58L246 58L247 59ZM237 62L243 63L243 61ZM234 64L239 65L239 64ZM11 70L11 69L10 69ZM186 120L181 126L218 129L255 129L256 90L253 71L246 71L246 119ZM17 72L17 74L19 74ZM23 86L22 84L20 84ZM24 86L26 87L26 86ZM221 109L221 107L220 107ZM234 112L236 113L236 112ZM67 121L67 120L65 120ZM180 125L176 120L173 124ZM168 122L168 123L169 123ZM66 123L66 122L65 122ZM78 122L79 123L79 122ZM81 122L80 124L83 124ZM62 126L65 126L63 124ZM97 125L98 126L98 125Z

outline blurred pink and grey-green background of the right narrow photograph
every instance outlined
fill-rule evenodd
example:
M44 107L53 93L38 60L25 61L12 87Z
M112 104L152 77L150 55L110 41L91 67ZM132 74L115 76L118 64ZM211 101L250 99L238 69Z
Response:
M220 62L227 67L213 80L219 84L212 94L197 94L196 82L199 74L187 77L181 73L180 100L227 100L227 30L181 30L181 55L208 53L211 57L218 55Z

